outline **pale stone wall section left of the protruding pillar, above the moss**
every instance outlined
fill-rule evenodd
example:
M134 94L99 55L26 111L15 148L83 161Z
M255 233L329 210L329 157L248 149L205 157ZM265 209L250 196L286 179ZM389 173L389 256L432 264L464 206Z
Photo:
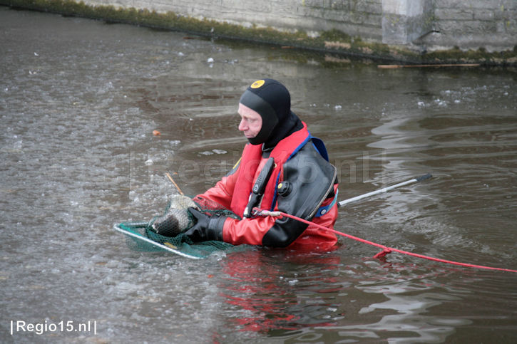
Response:
M317 35L332 28L382 41L382 0L83 0L92 5L173 11L245 27L272 27Z

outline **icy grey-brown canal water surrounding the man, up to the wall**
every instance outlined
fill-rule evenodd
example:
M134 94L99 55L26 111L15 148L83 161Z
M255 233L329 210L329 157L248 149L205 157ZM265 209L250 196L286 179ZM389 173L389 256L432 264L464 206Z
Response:
M340 199L434 174L347 205L337 229L517 269L516 70L332 61L1 7L0 341L515 343L517 273L349 239L195 261L113 231L163 211L166 172L188 194L225 174L240 94L272 77L327 142Z

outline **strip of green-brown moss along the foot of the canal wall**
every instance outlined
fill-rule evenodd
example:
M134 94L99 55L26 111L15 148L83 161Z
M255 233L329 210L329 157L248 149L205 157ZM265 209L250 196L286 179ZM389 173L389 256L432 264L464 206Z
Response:
M285 32L274 28L245 28L213 20L193 19L174 12L158 13L147 9L123 9L114 6L91 6L83 1L72 0L0 0L0 4L37 11L48 11L67 16L81 16L114 23L136 24L150 28L185 31L212 38L230 38L240 41L292 46L309 51L324 51L340 56L399 61L404 63L484 63L517 65L517 46L513 51L488 53L477 51L448 51L416 53L406 48L395 48L382 43L368 43L359 37L332 29L323 31L319 37L309 37L304 31Z

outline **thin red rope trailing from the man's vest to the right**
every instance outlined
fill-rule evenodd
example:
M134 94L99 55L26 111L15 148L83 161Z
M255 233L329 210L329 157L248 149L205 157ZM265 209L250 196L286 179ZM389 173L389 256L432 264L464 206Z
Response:
M257 214L261 215L261 212L259 211ZM378 254L376 254L373 258L382 258L382 257L386 256L387 254L389 254L391 251L395 251L395 252L399 252L399 254L407 254L408 256L414 256L414 257L418 257L418 258L421 258L421 259L428 259L429 261L439 261L440 263L454 264L454 265L459 265L459 266L466 266L468 268L517 272L517 270L512 270L512 269L493 268L491 266L483 266L483 265L460 263L458 261L448 261L446 259L439 259L439 258L434 258L434 257L430 257L430 256L424 256L424 254L414 254L413 252L409 252L409 251L393 249L391 247L387 247L387 246L384 246L384 245L381 245L381 244L377 244L377 243L375 243L373 241L364 240L364 239L358 238L357 236L353 236L353 235L350 235L350 234L342 233L341 231L336 231L334 229L329 229L329 228L324 227L324 226L322 226L320 224L315 224L314 222L307 221L307 220L304 220L304 219L300 219L300 217L295 217L294 215L290 215L290 214L287 214L285 212L264 212L264 211L262 211L262 214L266 215L266 216L278 216L278 215L280 215L282 217L289 217L291 219L295 219L297 221L301 221L304 224L309 224L311 226L317 226L318 228L324 229L325 231L331 231L334 234L341 235L341 236L346 236L349 239L360 241L360 242L362 242L364 244L369 244L369 245L377 246L377 247L381 248L382 251L380 251Z

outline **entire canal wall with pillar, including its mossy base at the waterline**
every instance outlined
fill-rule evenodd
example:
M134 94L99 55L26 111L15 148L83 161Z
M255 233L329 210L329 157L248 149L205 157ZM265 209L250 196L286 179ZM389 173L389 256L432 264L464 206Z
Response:
M442 9L446 0L270 0L260 11L254 0L87 1L0 0L0 4L384 61L517 66L517 35L513 35L517 20L507 19L517 10L517 1L502 11L492 10L494 19L503 21L473 18L465 20L461 31L454 24L457 20L436 19L436 13L444 13L430 5L436 1ZM242 13L236 13L232 4ZM463 11L456 1L451 6ZM486 9L476 13L491 18ZM484 32L478 31L480 25Z

